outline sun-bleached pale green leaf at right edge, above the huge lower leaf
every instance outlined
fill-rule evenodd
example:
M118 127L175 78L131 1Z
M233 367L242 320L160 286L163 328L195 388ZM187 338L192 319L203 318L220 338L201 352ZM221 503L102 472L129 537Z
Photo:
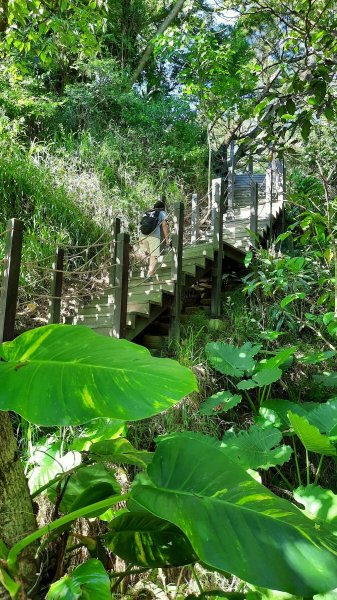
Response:
M323 522L337 535L337 496L318 485L301 486L294 490L294 498L304 505L305 514Z

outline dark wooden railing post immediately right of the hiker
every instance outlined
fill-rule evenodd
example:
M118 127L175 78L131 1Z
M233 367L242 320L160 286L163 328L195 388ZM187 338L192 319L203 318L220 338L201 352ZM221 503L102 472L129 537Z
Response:
M171 307L170 339L179 340L180 316L183 297L183 235L184 235L184 204L174 205L172 233L172 268L171 278L175 282L174 299Z

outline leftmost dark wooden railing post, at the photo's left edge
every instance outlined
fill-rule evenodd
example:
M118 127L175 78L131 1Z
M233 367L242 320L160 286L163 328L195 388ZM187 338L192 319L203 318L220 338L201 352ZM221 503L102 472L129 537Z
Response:
M18 301L23 222L7 221L5 262L0 297L0 343L14 338L16 304Z

